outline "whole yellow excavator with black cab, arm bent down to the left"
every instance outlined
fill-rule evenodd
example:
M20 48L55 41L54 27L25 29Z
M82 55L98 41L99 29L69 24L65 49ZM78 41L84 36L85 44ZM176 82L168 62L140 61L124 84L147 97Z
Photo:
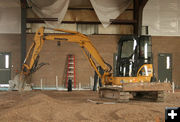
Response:
M45 30L53 30L55 34L47 34ZM31 75L46 63L38 64L39 53L46 41L67 41L79 44L84 55L101 79L99 89L101 98L110 98L118 102L128 102L131 97L148 96L153 100L163 101L164 91L170 89L169 83L152 82L154 79L152 59L148 49L151 49L146 37L139 39L136 36L122 36L118 43L116 72L114 75L110 64L104 61L91 40L84 34L76 31L41 27L34 36L34 42L27 52L22 65L21 73L16 82L11 84L12 89L22 90L24 83ZM103 70L99 71L98 67Z

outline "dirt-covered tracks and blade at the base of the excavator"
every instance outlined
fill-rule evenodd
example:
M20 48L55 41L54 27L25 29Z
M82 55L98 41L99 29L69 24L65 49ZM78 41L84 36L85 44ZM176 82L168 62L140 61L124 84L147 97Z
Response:
M166 91L170 90L170 83L129 83L122 87L101 87L99 89L99 95L100 98L113 99L116 102L129 102L130 100L163 102L165 100Z

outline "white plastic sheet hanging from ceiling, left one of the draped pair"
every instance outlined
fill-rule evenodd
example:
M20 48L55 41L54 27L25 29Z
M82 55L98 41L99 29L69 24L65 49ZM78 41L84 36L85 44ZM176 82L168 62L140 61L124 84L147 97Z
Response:
M50 27L57 27L66 14L69 0L29 0L29 4L41 18L58 18L58 22L46 22Z

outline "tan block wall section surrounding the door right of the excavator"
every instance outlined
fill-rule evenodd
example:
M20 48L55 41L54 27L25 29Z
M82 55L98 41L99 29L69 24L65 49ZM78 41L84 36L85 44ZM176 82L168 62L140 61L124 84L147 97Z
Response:
M152 51L154 55L155 73L158 77L158 53L172 53L172 79L180 88L180 37L153 36Z

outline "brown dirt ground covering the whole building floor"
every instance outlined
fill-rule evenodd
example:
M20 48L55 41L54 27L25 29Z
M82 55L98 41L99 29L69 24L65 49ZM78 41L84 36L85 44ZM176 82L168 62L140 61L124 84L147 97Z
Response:
M0 92L0 121L155 121L164 119L166 107L180 106L180 93L168 93L165 102L130 101L117 104L94 104L92 91Z

